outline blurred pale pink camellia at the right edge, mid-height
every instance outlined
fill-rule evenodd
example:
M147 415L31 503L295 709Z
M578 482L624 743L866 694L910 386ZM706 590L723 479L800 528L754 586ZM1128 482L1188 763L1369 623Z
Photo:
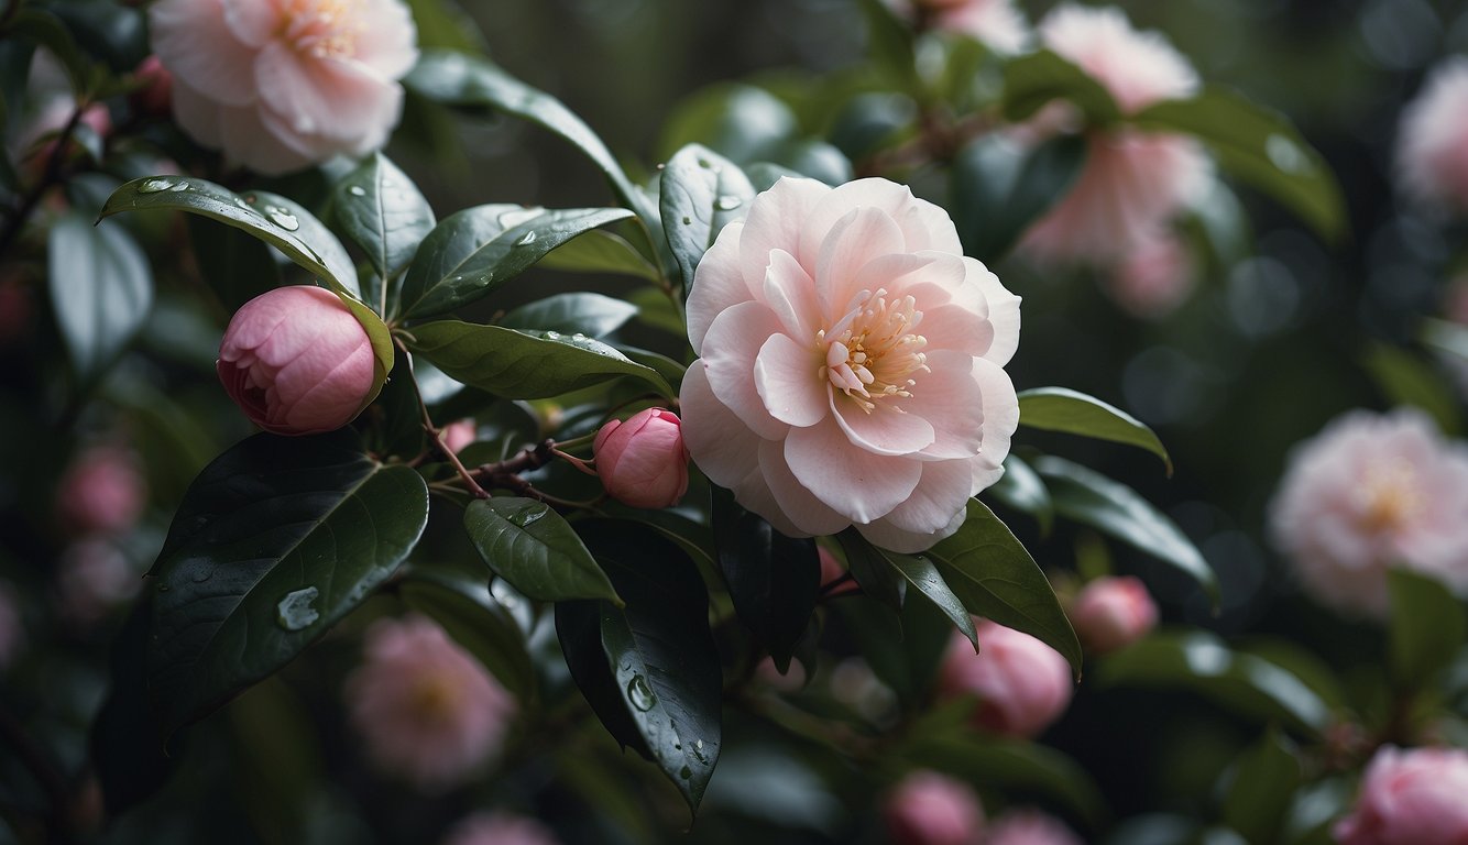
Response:
M1384 618L1389 566L1468 593L1468 447L1420 411L1353 411L1296 446L1270 506L1274 544L1305 590Z

